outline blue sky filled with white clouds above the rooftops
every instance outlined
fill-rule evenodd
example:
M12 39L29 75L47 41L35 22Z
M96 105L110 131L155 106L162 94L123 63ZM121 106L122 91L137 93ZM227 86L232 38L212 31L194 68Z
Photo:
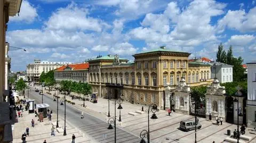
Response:
M23 0L7 24L6 41L27 51L10 48L12 71L35 58L133 61L160 46L215 60L220 43L244 63L256 60L256 0Z

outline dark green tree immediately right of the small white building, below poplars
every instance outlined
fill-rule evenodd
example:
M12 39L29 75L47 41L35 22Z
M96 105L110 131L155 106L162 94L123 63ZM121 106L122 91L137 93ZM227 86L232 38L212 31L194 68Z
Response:
M244 81L244 71L245 69L243 68L243 59L241 56L238 58L233 57L232 58L233 62L233 81Z

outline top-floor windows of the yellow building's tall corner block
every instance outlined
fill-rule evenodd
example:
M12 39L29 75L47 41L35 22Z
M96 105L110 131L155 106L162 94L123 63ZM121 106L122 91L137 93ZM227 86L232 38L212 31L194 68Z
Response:
M163 62L163 68L168 68L167 67L167 64L168 62L167 61L164 61ZM177 61L177 68L186 68L187 66L186 66L186 64L187 64L187 62L186 61ZM156 68L156 65L157 65L157 62L156 61L154 61L153 63L152 63L152 68ZM181 67L180 67L181 66ZM141 69L141 62L137 62L137 68L138 69ZM144 68L145 69L148 69L148 62L145 62L144 63ZM170 62L170 68L174 68L174 61L172 61L172 62Z

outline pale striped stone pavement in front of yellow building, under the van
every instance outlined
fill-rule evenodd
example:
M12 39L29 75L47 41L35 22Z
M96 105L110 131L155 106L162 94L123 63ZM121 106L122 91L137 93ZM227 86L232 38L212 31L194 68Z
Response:
M51 91L52 95L55 91ZM47 95L47 96L52 96ZM63 95L59 95L62 97ZM67 100L71 100L71 97L67 96ZM98 98L98 103L94 104L92 102L85 102L85 107L83 107L83 101L74 99L72 100L76 104L74 107L82 110L86 113L92 114L101 120L107 121L108 114L108 100L103 98ZM144 129L148 129L147 113L140 114L136 111L141 111L142 105L134 105L128 102L122 104L123 109L121 110L122 122L118 122L118 127L132 132L133 134L140 135L140 132ZM144 106L144 110L146 110ZM128 113L135 113L135 115L130 115ZM114 116L114 105L113 100L110 100L110 115ZM150 140L158 142L194 142L195 141L195 131L184 132L179 129L180 121L182 120L194 120L194 116L183 115L174 113L171 116L167 115L166 111L160 110L156 113L158 119L150 119ZM117 119L119 117L119 111L116 110ZM151 114L150 114L151 116ZM215 125L215 122L208 121L205 118L198 118L199 123L202 124L202 128L197 130L197 142L226 142L227 130L231 130L231 133L237 129L237 125L230 123L223 123L223 125ZM240 128L240 127L239 127ZM256 142L256 132L249 131L246 129L246 136L252 137L252 140L245 142Z

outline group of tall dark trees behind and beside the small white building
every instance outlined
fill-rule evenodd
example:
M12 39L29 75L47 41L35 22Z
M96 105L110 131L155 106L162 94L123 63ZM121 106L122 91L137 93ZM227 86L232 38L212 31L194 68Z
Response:
M245 69L243 68L243 58L241 56L233 56L233 47L230 46L226 53L223 45L220 44L217 52L217 62L226 63L233 65L233 81L245 81L246 75L244 74Z

